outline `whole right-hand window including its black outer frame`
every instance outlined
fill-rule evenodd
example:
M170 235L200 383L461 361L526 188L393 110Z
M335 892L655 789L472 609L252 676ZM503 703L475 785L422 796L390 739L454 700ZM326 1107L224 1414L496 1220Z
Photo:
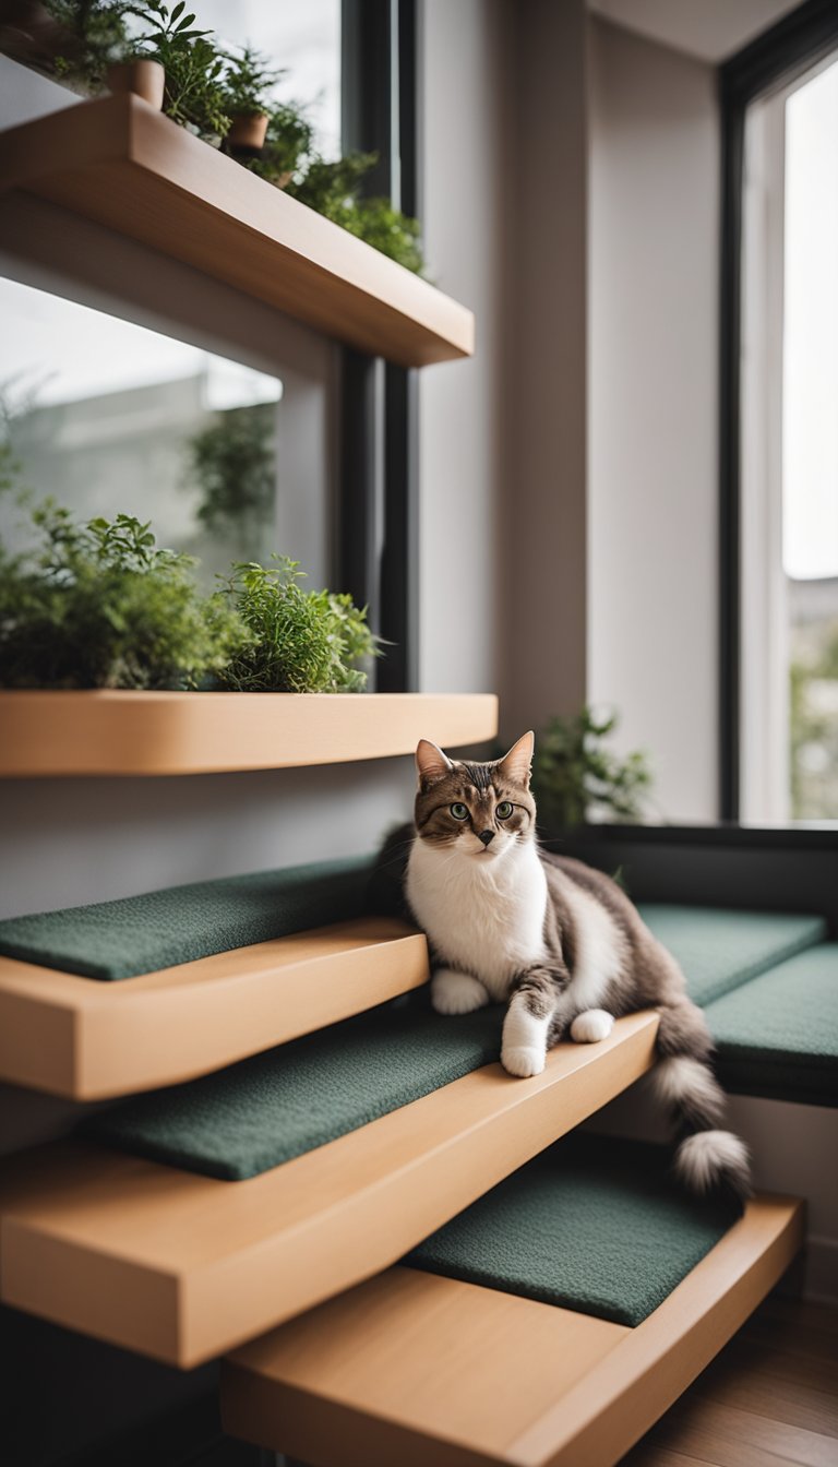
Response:
M838 820L838 10L721 67L721 816Z

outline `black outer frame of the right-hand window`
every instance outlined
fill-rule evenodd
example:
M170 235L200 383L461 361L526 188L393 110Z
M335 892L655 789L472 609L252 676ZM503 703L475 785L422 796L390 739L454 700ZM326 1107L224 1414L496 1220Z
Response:
M740 819L741 483L740 348L746 113L838 47L835 0L806 0L719 67L722 251L719 332L719 819Z

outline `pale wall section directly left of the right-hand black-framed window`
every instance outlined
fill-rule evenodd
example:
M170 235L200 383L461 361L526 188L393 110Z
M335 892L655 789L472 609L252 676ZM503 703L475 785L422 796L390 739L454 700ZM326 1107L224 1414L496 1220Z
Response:
M669 820L713 820L715 75L590 22L589 697Z

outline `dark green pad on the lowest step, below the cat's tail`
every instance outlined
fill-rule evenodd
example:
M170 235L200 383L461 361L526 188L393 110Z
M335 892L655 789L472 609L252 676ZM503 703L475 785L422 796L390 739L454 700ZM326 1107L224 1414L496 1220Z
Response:
M732 1222L678 1188L665 1147L571 1135L434 1232L405 1263L618 1325L640 1325Z

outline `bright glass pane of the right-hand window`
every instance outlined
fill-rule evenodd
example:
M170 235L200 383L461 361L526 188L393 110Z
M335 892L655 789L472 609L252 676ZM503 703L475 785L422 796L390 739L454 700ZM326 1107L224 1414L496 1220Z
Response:
M838 62L785 104L782 563L791 816L838 819Z

